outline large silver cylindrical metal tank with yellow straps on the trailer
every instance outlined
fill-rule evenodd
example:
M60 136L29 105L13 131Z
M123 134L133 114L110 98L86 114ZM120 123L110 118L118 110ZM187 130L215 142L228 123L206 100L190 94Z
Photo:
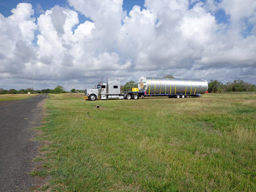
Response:
M138 88L147 94L204 94L208 89L208 82L200 79L141 77Z

